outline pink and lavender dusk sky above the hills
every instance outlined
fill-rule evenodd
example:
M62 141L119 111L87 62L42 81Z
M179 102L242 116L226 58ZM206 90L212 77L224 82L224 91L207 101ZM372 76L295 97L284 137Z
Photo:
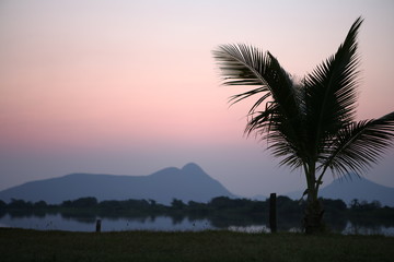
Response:
M235 194L301 190L243 135L248 104L228 98L244 88L220 85L211 50L251 44L303 76L360 15L359 120L394 111L392 0L0 0L0 190L189 162ZM393 170L394 148L367 178L394 187Z

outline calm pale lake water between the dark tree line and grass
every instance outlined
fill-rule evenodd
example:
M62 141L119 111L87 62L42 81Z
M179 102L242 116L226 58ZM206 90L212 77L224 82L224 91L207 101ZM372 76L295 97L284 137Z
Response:
M269 233L269 227L264 223L240 224L235 221L225 221L220 218L220 224L208 218L190 219L189 217L170 217L170 216L147 216L147 217L99 217L80 216L65 217L61 214L45 214L31 216L11 216L4 214L0 217L0 227L16 227L37 230L68 230L68 231L94 231L96 219L102 222L102 231L121 231L121 230L162 230L162 231L198 231L198 230L235 230L246 233ZM297 223L296 223L297 225ZM281 228L278 224L278 230L301 231L293 226L291 228ZM334 229L341 234L360 235L385 235L394 236L393 226L382 225L354 225L346 222L340 228Z

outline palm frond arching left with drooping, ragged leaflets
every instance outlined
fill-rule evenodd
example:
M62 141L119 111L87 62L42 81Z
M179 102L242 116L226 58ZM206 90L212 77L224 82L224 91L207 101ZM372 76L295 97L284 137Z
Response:
M280 67L270 52L263 52L246 45L220 46L213 51L219 61L224 85L252 85L253 90L234 95L230 102L239 103L258 95L251 107L246 134L256 132L269 143L274 155L287 156L286 163L299 163L301 151L282 150L286 146L303 148L303 112L300 99L300 86ZM270 99L269 99L270 98ZM260 110L265 103L264 110Z

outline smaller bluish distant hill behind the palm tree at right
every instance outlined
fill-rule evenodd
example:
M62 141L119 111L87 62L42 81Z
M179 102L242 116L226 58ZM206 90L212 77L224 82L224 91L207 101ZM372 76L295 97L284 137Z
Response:
M292 192L288 195L292 199L300 199L302 192ZM381 186L366 178L336 179L322 188L320 195L325 199L341 199L346 204L349 204L354 199L358 199L368 202L378 200L382 205L394 206L394 188Z

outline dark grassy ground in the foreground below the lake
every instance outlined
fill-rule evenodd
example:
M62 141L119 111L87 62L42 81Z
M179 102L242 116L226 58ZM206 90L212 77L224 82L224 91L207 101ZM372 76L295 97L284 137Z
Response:
M0 261L394 261L394 238L0 228Z

